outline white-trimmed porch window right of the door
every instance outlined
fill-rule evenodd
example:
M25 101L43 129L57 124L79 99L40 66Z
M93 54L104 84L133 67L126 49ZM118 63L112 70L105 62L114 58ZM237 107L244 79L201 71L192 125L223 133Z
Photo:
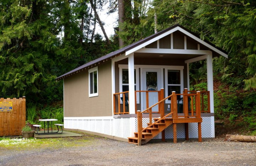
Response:
M172 91L175 91L176 94L181 94L183 89L183 66L180 68L170 68L165 70L165 96L172 94ZM178 95L179 99L181 96ZM170 103L171 99L168 98L166 103Z

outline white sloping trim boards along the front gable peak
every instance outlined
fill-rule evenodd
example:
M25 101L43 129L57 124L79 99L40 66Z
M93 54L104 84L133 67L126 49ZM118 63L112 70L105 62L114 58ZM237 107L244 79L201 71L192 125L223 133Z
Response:
M228 55L225 54L224 52L220 51L219 49L216 49L216 48L213 47L212 45L210 45L210 44L206 43L205 41L199 39L199 38L196 37L195 35L189 33L188 31L184 30L183 28L181 28L181 27L179 27L179 26L177 26L177 27L175 27L175 28L173 28L173 29L171 29L171 30L169 30L169 31L167 31L167 32L165 32L165 33L163 33L163 34L160 34L160 35L156 36L155 38L153 38L153 39L151 39L151 40L149 40L149 41L146 41L146 42L144 42L144 43L142 43L142 44L140 44L140 45L138 45L138 46L136 46L136 47L134 47L134 48L132 48L132 49L130 49L130 50L128 50L128 51L126 51L126 52L125 52L125 56L127 56L127 55L129 55L129 54L131 54L131 53L133 53L133 52L137 52L139 49L141 49L141 48L147 46L148 44L153 43L153 42L155 42L155 41L157 41L157 40L163 38L164 36L166 36L166 35L168 35L168 34L172 34L173 32L178 31L178 30L179 30L180 32L182 32L183 34L185 34L185 35L191 37L192 39L198 41L199 43L205 45L206 47L212 49L213 51L217 52L218 54L220 54L220 55L222 55L222 56L228 58ZM172 37L171 37L171 40L172 40ZM172 44L172 43L173 43L173 42L171 42L171 44ZM172 48L171 48L171 49L172 49ZM162 49L161 49L161 50L162 50ZM169 49L167 49L167 50L169 50ZM177 50L181 51L182 49L177 49ZM184 49L184 50L185 50L185 49ZM189 50L189 51L191 51L191 50ZM168 52L169 52L169 51L168 51ZM179 54L181 54L181 53L179 53ZM207 54L207 53L206 53L206 54Z

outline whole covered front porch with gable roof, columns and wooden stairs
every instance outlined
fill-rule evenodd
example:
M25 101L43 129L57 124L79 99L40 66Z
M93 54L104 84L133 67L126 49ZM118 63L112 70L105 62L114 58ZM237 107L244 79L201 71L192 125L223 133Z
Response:
M203 121L208 123L204 129L211 132L207 137L214 137L212 58L221 55L227 57L221 49L178 26L138 41L112 58L113 117L135 118L131 121L134 137L129 137L129 142L144 144L160 132L158 138L164 140L170 125L171 138L177 142L176 127L181 123L185 124L186 139L188 123L197 123L192 132L197 132L201 141ZM189 64L201 60L207 64L207 91L190 91Z

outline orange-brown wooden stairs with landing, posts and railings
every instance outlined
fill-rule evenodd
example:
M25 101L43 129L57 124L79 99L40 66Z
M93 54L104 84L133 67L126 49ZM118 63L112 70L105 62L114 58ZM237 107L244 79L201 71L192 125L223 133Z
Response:
M185 124L185 135L186 140L188 140L188 123L197 123L198 124L198 141L202 141L202 134L201 134L201 109L200 109L200 91L197 91L196 94L188 94L188 89L184 89L183 95L183 112L184 115L178 116L177 111L177 94L175 91L172 91L172 94L166 98L164 98L164 89L160 91L160 101L156 104L148 107L144 111L137 110L137 120L138 120L138 132L134 132L134 137L128 137L128 142L136 145L144 145L151 139L153 139L156 135L162 132L164 141L164 129L168 126L173 124L173 142L177 143L177 123L184 123ZM188 113L188 96L192 97L191 102L191 114ZM195 97L195 105L193 103L193 97ZM171 98L171 112L167 115L164 114L164 101L168 98ZM148 100L147 100L148 101ZM154 118L154 123L152 123L152 108L156 105L159 105L160 110L160 117L161 118ZM194 109L195 106L195 109ZM143 113L149 114L149 121L150 123L146 128L142 128L142 115ZM164 116L165 115L165 116Z

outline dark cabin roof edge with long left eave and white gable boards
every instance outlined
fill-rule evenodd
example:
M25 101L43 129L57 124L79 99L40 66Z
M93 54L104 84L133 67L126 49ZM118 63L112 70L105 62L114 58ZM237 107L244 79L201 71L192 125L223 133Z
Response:
M121 54L125 54L126 56L128 56L129 54L132 54L134 52L143 52L143 48L145 46L147 46L148 44L151 44L161 38L163 38L164 36L168 35L168 34L172 34L175 31L180 31L181 33L191 37L192 39L196 40L198 43L201 43L202 45L208 47L210 50L222 55L223 57L228 58L228 53L226 51L224 51L223 49L220 49L218 47L216 47L214 44L212 44L209 41L206 40L201 40L199 38L199 36L197 36L196 34L194 34L193 32L191 32L190 30L188 30L187 28L180 26L180 25L174 25L171 26L167 29L164 29L156 34L152 34L140 41L137 41L135 43L132 43L122 49L118 49L114 52L111 52L103 57L100 57L98 59L95 59L91 62L88 62L80 67L77 67L76 69L69 71L59 77L56 78L56 80L60 80L60 79L64 79L70 75L76 74L78 72L90 69L92 67L98 66L102 63L106 63L108 60L111 60L113 57L117 57L120 56ZM190 52L190 54L198 54L198 51L205 51L205 54L207 54L210 50L194 50L192 52ZM184 51L179 50L175 50L175 49L169 49L169 50L162 50L162 51L166 51L166 52L162 52L162 53L166 53L166 54L184 54ZM181 51L181 52L180 52ZM159 52L160 53L160 52Z

